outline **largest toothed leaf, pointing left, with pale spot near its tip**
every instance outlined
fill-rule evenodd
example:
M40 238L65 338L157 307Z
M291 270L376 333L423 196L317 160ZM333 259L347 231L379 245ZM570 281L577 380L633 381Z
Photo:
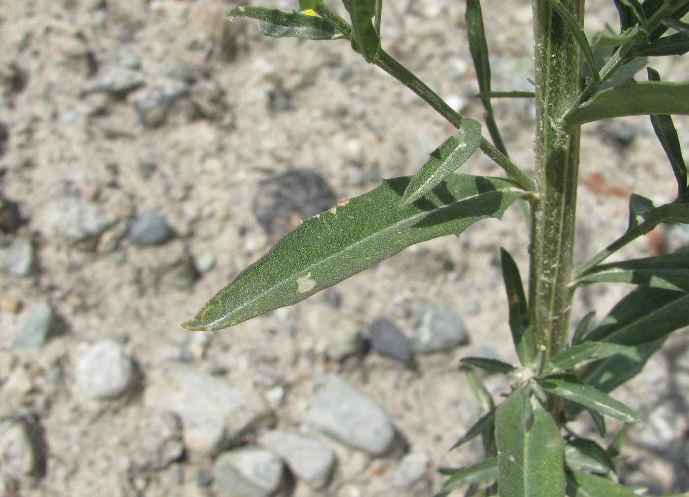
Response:
M426 197L400 208L409 181L385 180L305 220L183 326L218 330L296 304L410 245L458 235L484 218L501 218L525 194L510 180L454 174Z

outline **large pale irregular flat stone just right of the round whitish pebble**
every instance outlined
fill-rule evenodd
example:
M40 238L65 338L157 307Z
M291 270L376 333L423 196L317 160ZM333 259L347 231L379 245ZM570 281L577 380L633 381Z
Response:
M207 455L217 454L269 416L257 392L243 394L182 364L161 371L158 381L146 389L145 403L179 416L187 450Z

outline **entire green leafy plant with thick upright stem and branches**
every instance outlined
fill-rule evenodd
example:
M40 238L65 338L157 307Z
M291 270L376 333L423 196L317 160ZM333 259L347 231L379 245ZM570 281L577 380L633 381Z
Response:
M582 28L584 0L533 0L534 92L493 92L479 0L466 0L469 50L486 111L482 125L462 118L380 44L382 0L342 0L351 23L322 0L300 0L302 12L238 7L228 18L260 22L267 36L346 39L364 59L381 67L457 129L411 177L384 180L364 195L304 220L297 229L220 290L190 330L217 330L269 310L295 304L411 244L460 235L484 218L501 218L513 203L528 213L531 249L528 295L511 255L502 251L508 321L520 366L468 357L464 370L485 414L455 447L481 436L486 458L471 467L446 469L439 495L469 487L466 495L633 496L617 483L615 458L626 428L609 447L577 436L568 421L586 410L601 436L604 416L639 418L608 394L632 378L671 332L689 325L689 251L612 264L604 260L661 223L689 224L686 165L670 114L689 114L689 83L631 76L647 57L689 51L689 25L681 19L689 0L614 0L619 32L588 41ZM309 10L307 10L309 9ZM303 11L307 10L307 13ZM630 64L632 62L635 64ZM630 65L628 65L630 64ZM643 67L643 65L641 67ZM630 70L630 67L635 68ZM491 99L535 98L535 173L508 158ZM575 267L573 240L579 142L584 123L648 114L677 180L677 197L659 207L640 195L629 202L625 233ZM507 178L455 173L480 149ZM597 325L591 313L570 336L570 307L578 288L594 282L635 284ZM499 405L472 367L515 377Z

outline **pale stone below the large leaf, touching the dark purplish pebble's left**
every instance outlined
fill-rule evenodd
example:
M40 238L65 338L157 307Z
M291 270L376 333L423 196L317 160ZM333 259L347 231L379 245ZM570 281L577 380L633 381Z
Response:
M342 361L361 348L361 334L356 321L334 313L327 304L315 304L309 308L307 324L314 336L325 341L327 355Z

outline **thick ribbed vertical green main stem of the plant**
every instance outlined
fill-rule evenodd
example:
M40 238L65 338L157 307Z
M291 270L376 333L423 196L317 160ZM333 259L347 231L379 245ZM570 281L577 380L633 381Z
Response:
M584 21L584 0L563 0ZM562 116L581 93L577 41L546 0L533 0L536 67L536 169L540 195L532 200L529 312L544 359L566 348L570 317L580 128ZM557 414L559 406L551 403ZM558 419L558 416L555 416Z

